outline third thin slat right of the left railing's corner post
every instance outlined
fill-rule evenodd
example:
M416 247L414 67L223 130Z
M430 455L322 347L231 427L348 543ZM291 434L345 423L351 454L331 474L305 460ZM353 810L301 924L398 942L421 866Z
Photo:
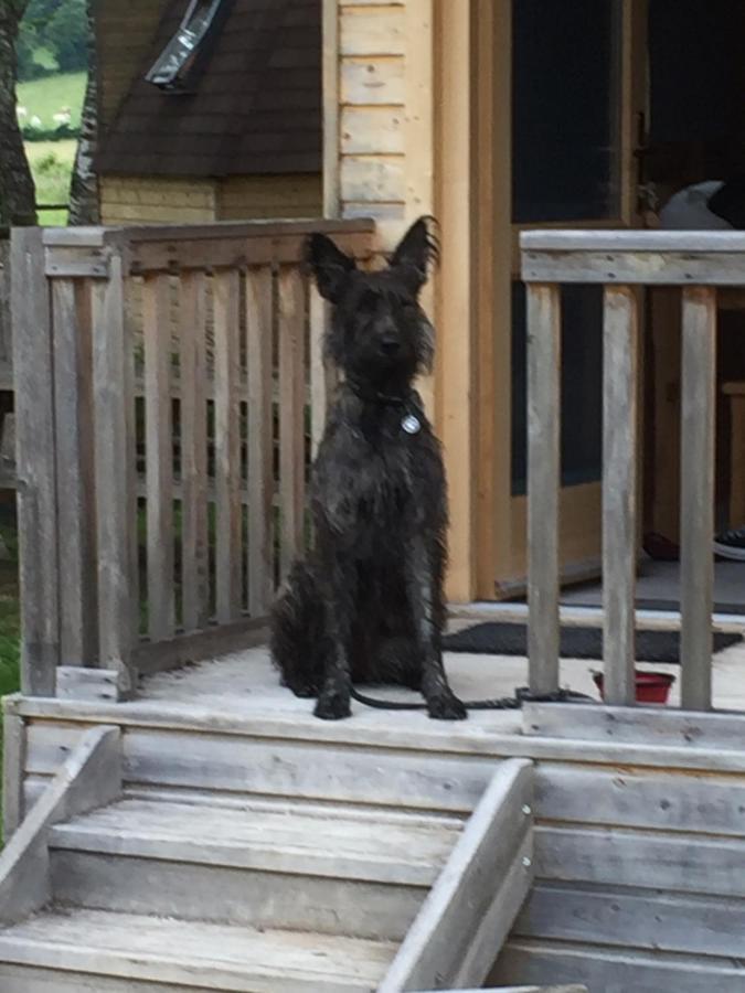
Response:
M221 269L214 276L215 338L215 493L216 616L235 620L242 608L242 510L240 434L240 274Z

